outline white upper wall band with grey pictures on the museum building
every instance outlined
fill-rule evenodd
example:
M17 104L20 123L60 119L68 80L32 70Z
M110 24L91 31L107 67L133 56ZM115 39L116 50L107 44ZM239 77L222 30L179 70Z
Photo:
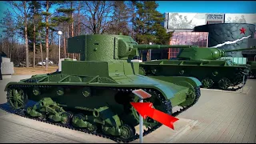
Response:
M250 23L256 24L256 14L218 13L165 13L164 26L167 31L193 30L194 26L207 23ZM256 28L255 28L256 30Z

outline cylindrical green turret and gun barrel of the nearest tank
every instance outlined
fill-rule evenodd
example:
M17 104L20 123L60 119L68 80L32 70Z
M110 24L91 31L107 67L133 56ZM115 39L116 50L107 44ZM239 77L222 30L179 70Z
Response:
M197 48L182 45L145 45L138 44L126 35L80 35L68 39L68 52L81 54L81 61L113 62L132 59L138 56L138 50L167 48Z

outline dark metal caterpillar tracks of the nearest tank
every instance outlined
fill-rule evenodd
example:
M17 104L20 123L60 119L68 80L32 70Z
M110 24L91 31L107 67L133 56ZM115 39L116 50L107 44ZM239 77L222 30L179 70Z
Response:
M30 86L30 85L27 85L27 86ZM11 86L12 87L12 86ZM14 86L14 87L18 87L18 86ZM23 87L23 86L22 86ZM26 87L26 86L25 86ZM50 86L46 86L46 87L50 87ZM124 91L124 92L128 92L128 91L131 91L133 89L123 89L123 88L112 88L113 90L118 90L118 91ZM134 89L135 90L135 89ZM149 91L154 91L154 93L157 93L155 90L150 90L150 89L143 89L145 90L146 92L149 92ZM182 109L172 113L172 106L171 106L171 102L170 100L166 100L162 94L157 94L158 95L158 98L161 100L161 102L164 104L165 106L165 109L166 109L166 114L171 114L172 116L176 117L178 116L178 114L181 114L182 112L186 111L187 109L189 109L191 106L194 106L194 104L196 102L198 102L198 99L200 98L201 96L201 90L200 90L200 86L198 87L195 87L194 88L195 90L195 94L196 94L196 98L194 100L194 102L190 105L190 106L184 106L182 107ZM9 105L9 103L8 103ZM54 125L54 126L61 126L61 127L65 127L65 128L68 128L70 130L78 130L78 131L81 131L81 132L84 132L86 134L93 134L93 135L96 135L98 137L102 137L102 138L108 138L114 142L118 142L118 143L127 143L127 142L132 142L136 139L139 138L139 135L138 134L135 134L134 137L132 138L129 138L129 139L122 139L122 138L118 138L118 137L114 137L112 135L107 135L107 134L103 134L101 131L96 131L96 132L90 132L89 130L86 130L86 129L81 129L81 128L76 128L74 126L71 126L70 124L69 125L64 125L62 123L57 123L57 122L50 122L50 121L47 121L47 120L42 120L40 118L33 118L33 117L30 117L28 115L25 114L25 109L20 109L20 110L5 110L6 112L10 113L10 114L16 114L18 116L21 116L23 118L29 118L29 119L33 119L35 121L38 121L38 122L46 122L48 124L51 124L51 125ZM148 130L144 130L143 132L143 136L146 136L147 134L150 134L151 132L153 132L154 130L157 130L160 126L162 126L161 123L158 123L158 125L154 126L154 127L148 127Z

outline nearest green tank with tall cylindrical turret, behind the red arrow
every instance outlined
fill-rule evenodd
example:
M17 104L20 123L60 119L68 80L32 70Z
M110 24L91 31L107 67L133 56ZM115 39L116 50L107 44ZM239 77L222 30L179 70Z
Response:
M131 62L138 45L130 36L94 34L68 39L68 52L81 54L80 61L66 59L62 71L38 74L6 85L7 100L17 114L51 122L73 130L82 130L117 142L138 138L134 126L139 115L130 102L139 99L132 92L142 89L151 94L152 102L166 114L179 114L193 106L200 97L202 83L191 77L149 78L139 73L139 62ZM28 106L27 101L35 102ZM182 110L173 113L174 106ZM23 113L24 112L24 113ZM161 123L144 120L144 134Z

